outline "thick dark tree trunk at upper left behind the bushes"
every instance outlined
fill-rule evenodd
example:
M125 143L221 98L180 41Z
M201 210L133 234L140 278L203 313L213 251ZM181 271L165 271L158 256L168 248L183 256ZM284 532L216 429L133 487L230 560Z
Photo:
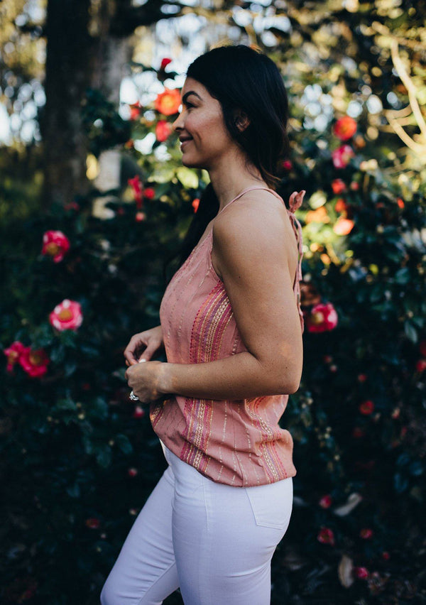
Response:
M48 0L46 104L41 121L44 207L87 191L81 104L91 81L89 6L90 0Z

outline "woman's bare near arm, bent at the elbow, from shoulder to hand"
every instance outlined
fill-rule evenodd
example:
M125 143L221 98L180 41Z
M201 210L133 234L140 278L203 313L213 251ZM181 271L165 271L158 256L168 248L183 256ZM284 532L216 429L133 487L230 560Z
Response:
M302 332L289 268L295 269L297 250L285 209L261 200L233 205L217 217L213 234L214 268L247 351L204 364L133 366L129 384L142 400L167 393L232 400L297 391Z

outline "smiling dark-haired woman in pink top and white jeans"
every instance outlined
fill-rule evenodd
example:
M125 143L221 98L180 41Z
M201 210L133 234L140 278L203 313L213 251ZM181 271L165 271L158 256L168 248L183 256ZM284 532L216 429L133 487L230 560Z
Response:
M182 163L208 170L211 185L161 325L124 351L129 387L151 402L169 467L109 574L103 605L160 604L178 587L185 605L270 603L295 475L293 442L278 420L302 372L293 212L304 192L288 210L271 189L288 150L287 119L282 77L265 55L222 47L190 65L173 128ZM163 346L167 363L151 361Z

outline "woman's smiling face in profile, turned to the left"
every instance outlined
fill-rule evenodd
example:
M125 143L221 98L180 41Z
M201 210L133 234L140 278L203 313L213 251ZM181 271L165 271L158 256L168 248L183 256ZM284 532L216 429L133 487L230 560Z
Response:
M181 141L182 163L190 168L211 170L235 146L219 101L190 77L182 88L182 112L173 129Z

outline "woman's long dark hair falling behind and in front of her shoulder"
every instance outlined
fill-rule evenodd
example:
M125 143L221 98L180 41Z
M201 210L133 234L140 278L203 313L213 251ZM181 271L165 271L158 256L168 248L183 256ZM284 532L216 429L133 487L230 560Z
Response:
M258 168L268 187L275 188L278 160L288 156L288 97L283 77L273 60L249 46L213 48L193 61L187 77L200 82L222 107L231 138ZM236 111L250 124L240 131ZM200 205L182 242L180 264L200 241L207 224L216 216L219 200L212 185L200 197Z

